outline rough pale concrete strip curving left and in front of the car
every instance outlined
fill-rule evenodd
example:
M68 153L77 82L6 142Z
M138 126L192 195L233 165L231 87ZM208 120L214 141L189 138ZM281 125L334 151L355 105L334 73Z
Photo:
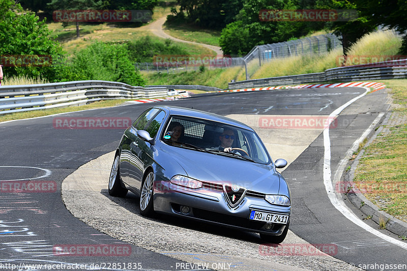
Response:
M144 218L138 197L111 197L107 191L114 152L78 168L62 184L62 198L78 219L114 238L191 263L231 263L234 270L348 270L349 265L332 256L275 256L260 253L254 233L180 220ZM292 231L282 244L308 244ZM261 255L263 254L263 255ZM210 265L211 266L211 265ZM227 265L226 265L227 266ZM221 270L221 265L214 269Z

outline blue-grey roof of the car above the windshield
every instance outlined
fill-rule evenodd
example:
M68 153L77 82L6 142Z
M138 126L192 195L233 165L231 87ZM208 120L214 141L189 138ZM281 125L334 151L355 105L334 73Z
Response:
M190 108L185 108L185 107L179 107L179 106L169 106L169 105L155 106L155 107L161 108L161 109L167 109L171 115L204 118L204 119L208 119L209 121L220 122L220 123L224 123L224 124L228 124L228 125L232 125L232 126L237 126L237 127L243 128L243 129L247 129L250 131L254 131L251 127L247 126L244 123L235 121L235 119L231 119L231 118L224 117L224 116L210 113L210 112L205 112L205 111L200 111L200 110L190 109Z

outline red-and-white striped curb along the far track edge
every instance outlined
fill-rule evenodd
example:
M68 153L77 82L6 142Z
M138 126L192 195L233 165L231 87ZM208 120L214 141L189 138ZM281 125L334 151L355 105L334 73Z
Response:
M231 89L229 91L218 91L218 92L252 92L252 91L271 91L272 89L288 89L288 88L320 88L320 87L371 87L372 92L379 91L379 89L386 88L386 85L380 82L350 82L350 83L334 83L334 84L302 84L302 85L279 85L279 86L268 86L268 87L256 87L256 88L244 88L244 89ZM189 95L180 95L177 97L169 97L165 99L144 99L130 101L135 104L153 103L160 101L172 101L182 98L190 97Z

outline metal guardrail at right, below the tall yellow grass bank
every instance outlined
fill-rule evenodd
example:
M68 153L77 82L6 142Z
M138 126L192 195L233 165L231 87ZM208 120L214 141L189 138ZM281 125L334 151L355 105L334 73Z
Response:
M228 88L237 89L283 84L318 83L334 80L346 82L357 80L398 79L406 77L407 59L399 59L373 64L332 68L321 73L308 73L230 82L228 83Z

